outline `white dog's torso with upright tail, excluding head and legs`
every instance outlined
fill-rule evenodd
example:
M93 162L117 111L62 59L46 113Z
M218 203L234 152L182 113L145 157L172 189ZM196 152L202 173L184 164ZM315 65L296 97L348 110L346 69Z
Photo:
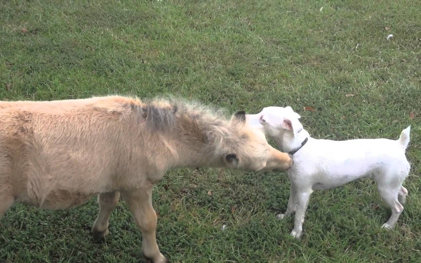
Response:
M306 146L294 154L290 173L310 175L316 189L328 189L357 178L396 177L401 184L410 165L405 157L409 128L398 140L354 139L347 141L310 138ZM305 176L303 175L303 176Z

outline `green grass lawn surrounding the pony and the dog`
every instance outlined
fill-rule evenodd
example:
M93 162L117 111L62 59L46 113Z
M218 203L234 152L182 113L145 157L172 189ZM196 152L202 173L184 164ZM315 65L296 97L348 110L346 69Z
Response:
M316 191L294 240L293 219L274 218L288 202L285 174L176 170L154 192L171 262L419 262L421 5L85 2L1 0L0 99L173 93L232 112L289 105L313 137L340 140L396 139L412 125L409 195L393 231L380 228L390 210L369 180ZM62 211L15 205L0 221L0 262L141 261L126 205L101 244L89 231L97 213L94 199Z

